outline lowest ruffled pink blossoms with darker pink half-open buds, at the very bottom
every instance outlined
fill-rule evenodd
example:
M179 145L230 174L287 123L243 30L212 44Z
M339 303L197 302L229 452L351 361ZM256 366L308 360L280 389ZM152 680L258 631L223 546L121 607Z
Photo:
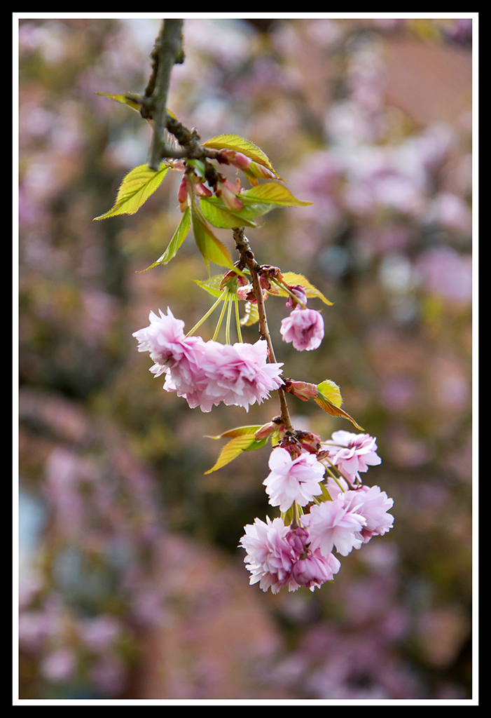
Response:
M305 528L290 529L282 518L267 523L256 518L254 524L244 527L245 536L241 546L247 555L244 562L252 576L249 583L259 582L259 587L272 593L288 587L296 591L305 586L313 591L326 581L331 581L340 569L340 562L333 556L323 556L320 551L312 552L310 539Z

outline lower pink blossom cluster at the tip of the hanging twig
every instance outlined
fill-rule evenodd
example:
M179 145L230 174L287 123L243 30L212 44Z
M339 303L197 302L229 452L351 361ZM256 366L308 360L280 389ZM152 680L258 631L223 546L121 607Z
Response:
M368 434L350 439L344 434L348 432L333 434L335 441L341 444L343 440L346 444L335 454L336 461L351 461L349 467L356 467L356 472L380 463L375 454L375 439ZM348 450L350 456L342 454L343 450ZM325 452L317 455L300 449L298 453L281 446L272 450L270 474L263 482L270 504L279 506L283 515L292 505L296 506L291 526L285 526L283 518L267 517L266 523L256 518L253 525L244 527L240 545L246 551L244 561L251 572L250 583L259 582L263 591L320 587L340 569L334 549L348 556L372 536L389 531L394 523L394 517L388 513L394 501L378 486L344 489L343 482L333 481L332 486L328 482L326 490L322 484L325 474L322 457ZM310 508L303 513L307 506Z

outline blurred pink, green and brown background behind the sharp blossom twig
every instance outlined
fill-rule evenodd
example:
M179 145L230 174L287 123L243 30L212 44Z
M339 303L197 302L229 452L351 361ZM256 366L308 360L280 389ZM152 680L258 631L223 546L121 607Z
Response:
M275 399L191 411L131 336L150 310L190 328L211 305L192 235L140 273L180 220L180 174L92 222L151 139L96 93L143 92L159 25L19 21L19 696L469 698L472 20L185 22L171 110L203 140L254 141L314 202L247 233L334 303L310 301L325 340L295 353L270 297L277 358L340 385L378 439L367 482L394 498L394 528L333 584L274 597L237 549L268 513L267 449L204 472L222 445L206 437L269 421ZM353 428L290 404L324 439Z

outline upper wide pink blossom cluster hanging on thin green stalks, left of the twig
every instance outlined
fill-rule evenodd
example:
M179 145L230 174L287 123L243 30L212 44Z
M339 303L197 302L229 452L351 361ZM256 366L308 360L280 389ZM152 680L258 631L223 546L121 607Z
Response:
M191 409L211 411L227 406L261 404L270 391L282 385L282 364L268 362L267 342L220 344L201 337L186 337L184 322L159 309L150 312L150 325L134 332L138 351L150 353L155 376L166 374L163 388L186 398Z

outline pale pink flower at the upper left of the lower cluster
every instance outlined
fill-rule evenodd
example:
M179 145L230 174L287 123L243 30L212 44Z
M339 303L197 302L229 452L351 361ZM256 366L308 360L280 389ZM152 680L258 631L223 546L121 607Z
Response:
M287 449L273 449L269 466L271 472L263 484L270 504L280 506L280 511L287 511L294 501L306 506L322 493L319 482L323 480L325 468L315 454L300 454L292 459Z

